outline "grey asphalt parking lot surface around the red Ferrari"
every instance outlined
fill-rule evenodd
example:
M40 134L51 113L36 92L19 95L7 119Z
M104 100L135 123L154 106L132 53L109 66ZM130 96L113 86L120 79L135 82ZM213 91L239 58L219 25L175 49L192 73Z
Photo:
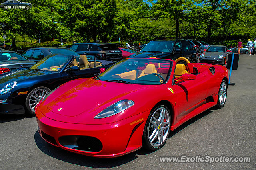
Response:
M0 115L0 170L7 169L255 169L256 55L240 55L232 70L226 105L209 109L170 133L155 152L140 149L112 159L91 158L54 147L37 131L34 117ZM200 90L200 89L198 89ZM114 145L114 144L113 144ZM160 156L251 157L250 163L160 162Z

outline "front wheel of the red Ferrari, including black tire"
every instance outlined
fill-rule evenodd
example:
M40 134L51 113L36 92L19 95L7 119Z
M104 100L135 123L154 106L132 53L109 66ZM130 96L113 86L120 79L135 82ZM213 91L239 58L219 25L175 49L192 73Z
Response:
M143 147L158 150L166 143L170 133L170 111L161 105L152 109L143 131Z

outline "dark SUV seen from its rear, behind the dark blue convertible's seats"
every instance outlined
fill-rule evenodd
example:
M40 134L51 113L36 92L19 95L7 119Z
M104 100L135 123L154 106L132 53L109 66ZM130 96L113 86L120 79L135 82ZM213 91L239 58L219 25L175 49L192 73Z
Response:
M75 43L69 47L78 54L96 55L98 59L115 60L123 59L122 51L117 44L112 43Z

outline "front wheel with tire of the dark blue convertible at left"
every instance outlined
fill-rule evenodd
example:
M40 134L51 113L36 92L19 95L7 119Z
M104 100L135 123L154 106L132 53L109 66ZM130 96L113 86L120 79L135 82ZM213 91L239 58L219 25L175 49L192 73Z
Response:
M38 102L50 93L50 89L47 87L38 87L33 89L26 98L26 109L28 114L35 115L35 107Z

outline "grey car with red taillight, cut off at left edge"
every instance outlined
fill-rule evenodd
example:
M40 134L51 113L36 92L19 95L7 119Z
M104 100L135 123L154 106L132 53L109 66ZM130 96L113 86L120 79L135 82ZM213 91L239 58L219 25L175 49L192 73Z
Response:
M36 62L26 59L15 51L0 51L0 76L5 72L28 69L34 64Z

